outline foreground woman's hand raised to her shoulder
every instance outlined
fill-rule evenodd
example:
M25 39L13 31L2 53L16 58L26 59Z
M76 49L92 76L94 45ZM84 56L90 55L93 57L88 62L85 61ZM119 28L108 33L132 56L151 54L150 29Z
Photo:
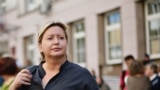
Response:
M31 79L32 75L30 71L28 69L23 69L17 74L9 90L17 90L21 85L30 85Z

